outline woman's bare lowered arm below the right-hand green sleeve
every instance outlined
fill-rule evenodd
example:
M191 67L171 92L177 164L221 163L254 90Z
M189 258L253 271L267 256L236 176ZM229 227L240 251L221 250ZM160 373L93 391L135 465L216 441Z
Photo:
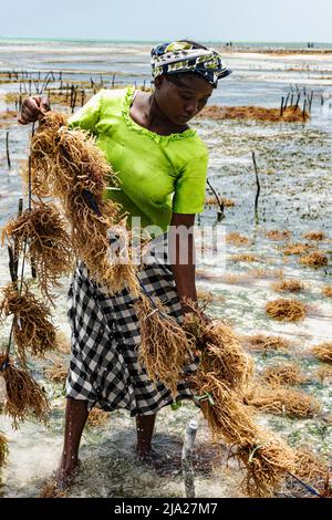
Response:
M168 253L179 299L190 299L197 303L194 223L195 215L173 214L168 233ZM186 311L190 311L185 303L183 306Z

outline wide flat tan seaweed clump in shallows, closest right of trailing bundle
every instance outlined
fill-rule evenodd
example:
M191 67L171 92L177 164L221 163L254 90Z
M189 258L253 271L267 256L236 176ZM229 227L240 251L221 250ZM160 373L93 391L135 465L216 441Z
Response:
M310 395L277 385L252 384L243 394L243 403L268 414L298 418L314 417L320 412L319 402Z

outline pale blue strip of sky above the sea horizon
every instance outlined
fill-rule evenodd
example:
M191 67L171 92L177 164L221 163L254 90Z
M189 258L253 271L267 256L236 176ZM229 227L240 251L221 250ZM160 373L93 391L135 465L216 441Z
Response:
M331 0L3 0L1 37L331 42Z

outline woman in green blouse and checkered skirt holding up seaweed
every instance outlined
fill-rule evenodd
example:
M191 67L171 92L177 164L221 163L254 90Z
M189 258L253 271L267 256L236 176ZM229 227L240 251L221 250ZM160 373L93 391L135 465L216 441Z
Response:
M149 294L160 298L180 322L188 310L183 300L197 301L193 227L195 214L204 209L208 163L207 149L188 122L206 105L218 80L231 71L216 51L178 41L152 50L152 72L153 93L101 91L71 117L70 126L96 135L121 181L121 189L110 188L105 197L122 204L129 217L139 218L139 226L154 237L148 266L139 278ZM44 97L30 97L19 122L37 121L45 110ZM167 238L180 228L189 232L187 262L179 259L178 241L169 240L176 246L163 250ZM72 358L59 486L69 482L77 466L81 435L92 406L128 409L136 417L137 454L146 458L156 413L173 403L167 388L163 384L155 387L137 364L139 330L133 302L126 290L110 297L89 279L82 262L77 266L69 292ZM195 368L193 363L185 373ZM184 376L177 398L190 397Z

